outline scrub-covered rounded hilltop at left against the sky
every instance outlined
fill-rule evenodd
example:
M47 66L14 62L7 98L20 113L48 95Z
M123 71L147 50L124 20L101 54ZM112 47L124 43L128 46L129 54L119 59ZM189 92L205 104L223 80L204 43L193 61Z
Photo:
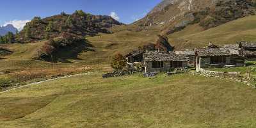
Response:
M122 25L122 23L109 16L92 15L82 10L71 15L61 12L60 15L45 19L35 17L17 34L16 40L21 43L48 40L60 36L63 32L93 36L97 33L111 33L108 28L114 25Z

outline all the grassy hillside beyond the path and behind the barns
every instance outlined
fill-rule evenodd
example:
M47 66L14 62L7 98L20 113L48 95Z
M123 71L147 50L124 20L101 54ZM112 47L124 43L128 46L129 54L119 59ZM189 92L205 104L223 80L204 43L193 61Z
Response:
M235 44L241 40L256 41L255 30L256 16L250 16L206 31L200 28L198 24L194 24L182 31L168 35L168 37L175 49L179 50L205 47L210 41L218 45ZM97 36L86 37L95 51L79 52L76 58L65 58L69 63L54 63L53 68L51 63L31 60L37 49L42 47L44 41L1 45L1 47L13 51L13 54L1 57L4 59L0 61L0 83L6 84L6 81L19 83L20 76L29 76L26 79L30 81L45 76L76 74L86 71L88 67L91 69L92 67L108 68L110 70L108 65L111 56L116 53L127 54L138 46L154 43L157 40L156 35L161 33L157 27L144 28L135 25L116 26L111 31L115 33L101 33ZM65 54L69 56L70 53L65 52Z

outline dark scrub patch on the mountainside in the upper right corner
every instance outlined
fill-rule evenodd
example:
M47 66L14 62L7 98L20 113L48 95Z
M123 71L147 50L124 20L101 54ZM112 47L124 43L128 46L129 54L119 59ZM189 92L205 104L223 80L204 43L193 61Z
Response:
M205 8L193 13L195 19L192 23L199 23L204 29L209 29L241 17L255 15L255 3L253 0L220 1L216 4L216 8Z

